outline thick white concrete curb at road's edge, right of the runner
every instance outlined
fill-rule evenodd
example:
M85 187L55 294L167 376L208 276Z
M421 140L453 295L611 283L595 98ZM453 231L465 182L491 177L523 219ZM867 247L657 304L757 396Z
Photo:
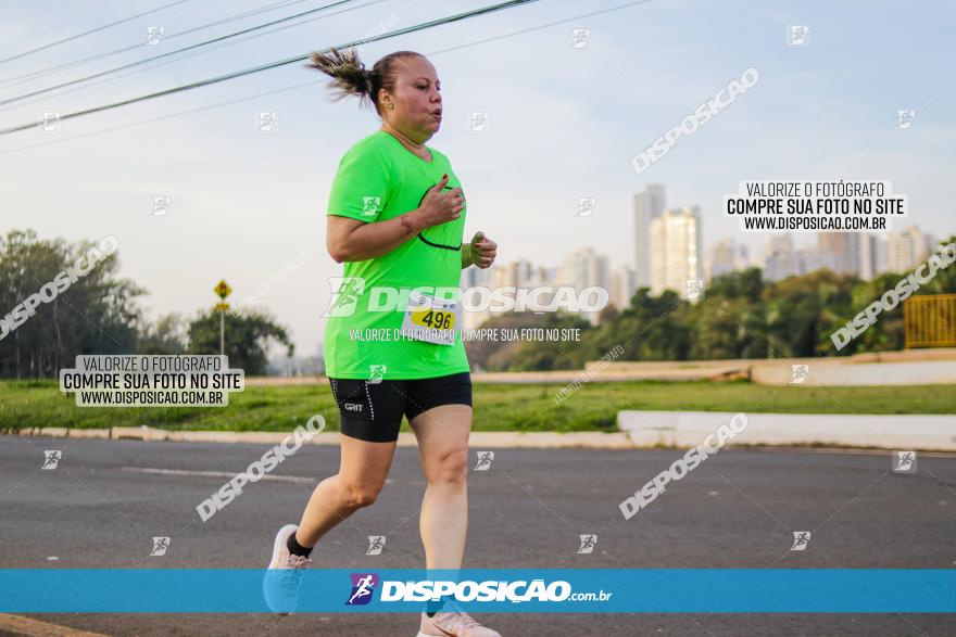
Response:
M956 451L956 416L745 413L747 425L728 446L816 445ZM730 411L619 411L618 426L636 446L692 447Z

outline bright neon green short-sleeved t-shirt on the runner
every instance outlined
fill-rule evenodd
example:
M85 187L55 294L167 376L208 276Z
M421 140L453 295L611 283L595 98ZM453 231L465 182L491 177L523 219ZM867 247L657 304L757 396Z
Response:
M360 140L339 163L328 214L383 221L417 208L443 174L449 176L446 188L461 187L448 157L428 150L431 162L381 129ZM410 290L460 288L466 213L467 203L457 219L426 228L388 254L344 264L343 280L338 294L332 290L327 311L324 354L329 378L410 380L469 371L462 326L455 326L451 345L394 337L401 334ZM379 306L388 298L383 288L404 294L394 309L369 311L373 295ZM395 292L391 295L398 296Z

